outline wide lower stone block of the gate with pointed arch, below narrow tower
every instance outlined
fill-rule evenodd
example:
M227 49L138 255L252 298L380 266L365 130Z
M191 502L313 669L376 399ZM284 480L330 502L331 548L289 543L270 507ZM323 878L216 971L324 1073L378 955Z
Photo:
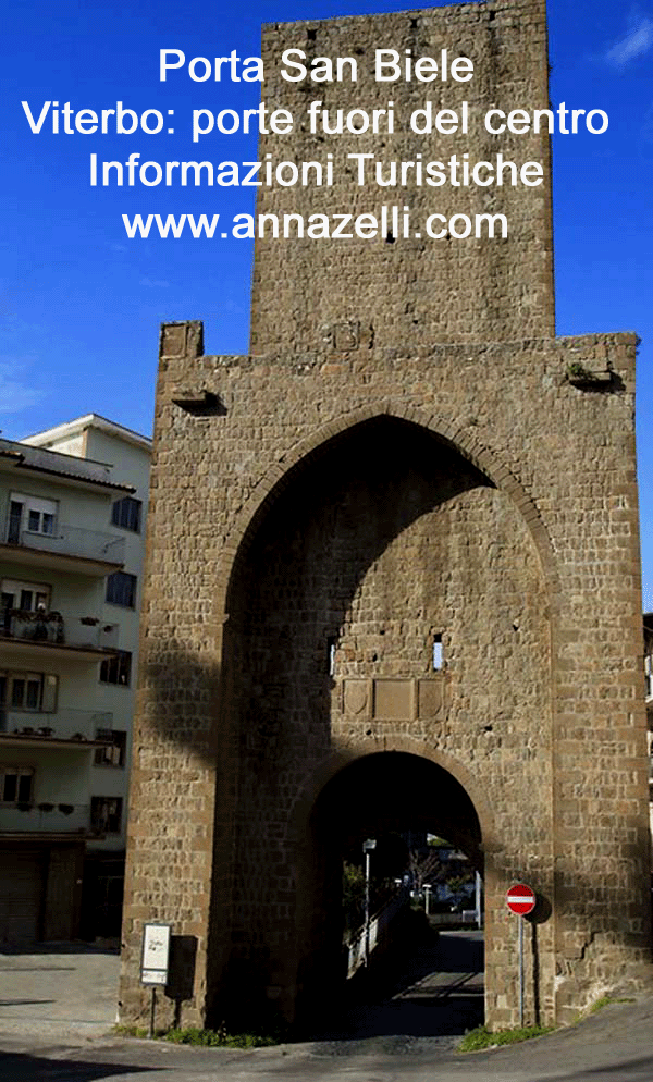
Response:
M198 324L163 328L127 1015L158 919L198 939L185 1017L215 1017L234 988L293 1017L329 866L315 802L387 751L446 771L476 809L491 1024L516 1019L513 880L551 911L531 1018L641 983L634 336L300 362L201 348ZM574 385L579 362L609 382ZM383 679L398 705L378 710Z

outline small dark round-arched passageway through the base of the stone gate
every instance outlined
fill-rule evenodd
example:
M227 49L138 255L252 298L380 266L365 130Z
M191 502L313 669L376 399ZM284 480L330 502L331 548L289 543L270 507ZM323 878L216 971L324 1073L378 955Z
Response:
M460 783L421 755L364 755L324 785L308 834L315 874L305 984L308 1030L338 1040L443 1037L481 1023L483 946L478 931L439 933L419 909L405 908L381 959L372 957L370 969L352 980L343 968L343 860L360 861L364 839L377 840L372 866L385 883L407 869L414 856L408 839L423 846L427 835L447 838L482 874L479 817ZM324 1009L324 989L332 991L332 1010ZM318 1010L308 1011L309 1004L320 1003Z

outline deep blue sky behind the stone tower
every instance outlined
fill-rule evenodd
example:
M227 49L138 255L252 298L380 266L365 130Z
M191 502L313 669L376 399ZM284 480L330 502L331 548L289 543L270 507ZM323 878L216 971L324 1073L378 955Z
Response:
M128 241L123 212L201 212L207 189L91 188L88 159L256 158L256 140L93 137L29 131L40 111L243 108L259 84L159 82L159 49L258 56L262 22L401 11L395 0L16 0L3 14L0 181L0 428L9 439L95 411L151 430L158 325L202 319L210 353L244 353L251 247L243 241ZM434 7L439 7L435 4ZM235 14L237 12L237 14ZM644 606L653 608L653 0L549 0L554 104L603 109L603 136L558 135L554 151L557 333L642 339L638 448ZM127 149L125 150L125 147ZM251 190L222 189L221 211ZM210 192L210 189L209 189ZM214 196L211 195L211 199Z

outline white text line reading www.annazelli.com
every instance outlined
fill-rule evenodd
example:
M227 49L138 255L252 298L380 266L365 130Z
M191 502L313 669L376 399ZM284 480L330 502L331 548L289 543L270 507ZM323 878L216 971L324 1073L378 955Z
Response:
M429 214L415 224L405 206L382 206L374 214L123 214L125 233L131 239L308 239L374 241L423 238L465 241L504 238L508 235L505 214Z

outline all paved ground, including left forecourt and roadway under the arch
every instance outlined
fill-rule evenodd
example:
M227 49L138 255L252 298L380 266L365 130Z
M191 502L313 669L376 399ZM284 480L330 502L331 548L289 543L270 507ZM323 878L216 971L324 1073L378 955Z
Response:
M138 1075L145 1075L147 1082L653 1079L653 997L613 1005L577 1026L539 1041L458 1056L452 1048L452 1030L459 1026L461 1005L469 1000L467 1010L479 998L475 969L479 944L475 946L471 936L460 949L461 944L443 939L439 956L431 947L417 952L412 982L406 973L395 971L379 985L370 1007L357 1010L349 1005L342 1016L348 1029L337 1038L330 1032L311 1043L254 1052L195 1049L114 1037L110 1028L118 957L113 954L62 947L58 952L2 955L0 1082L128 1082ZM440 969L432 968L434 959ZM458 970L446 969L454 964ZM424 1010L440 1012L440 1022L430 1026L430 1036L415 1032L421 1029L423 1034ZM438 1032L433 1034L433 1030Z

